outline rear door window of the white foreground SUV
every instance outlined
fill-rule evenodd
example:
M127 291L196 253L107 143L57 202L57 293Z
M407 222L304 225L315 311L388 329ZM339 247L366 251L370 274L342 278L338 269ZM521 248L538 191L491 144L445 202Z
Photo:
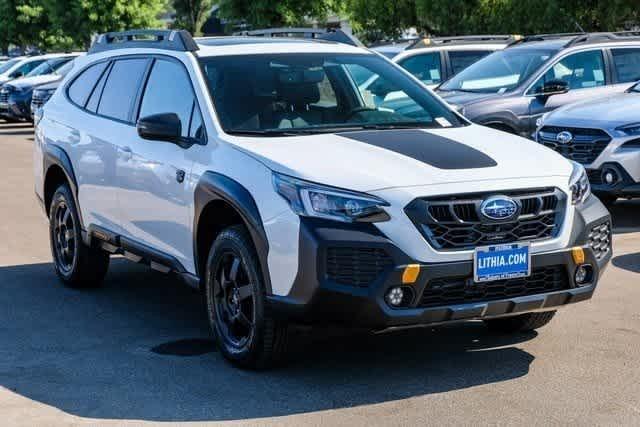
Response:
M102 91L98 114L128 121L147 63L146 58L114 62Z

